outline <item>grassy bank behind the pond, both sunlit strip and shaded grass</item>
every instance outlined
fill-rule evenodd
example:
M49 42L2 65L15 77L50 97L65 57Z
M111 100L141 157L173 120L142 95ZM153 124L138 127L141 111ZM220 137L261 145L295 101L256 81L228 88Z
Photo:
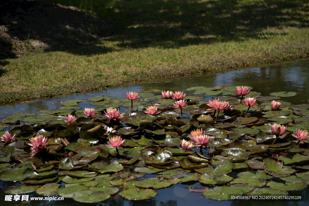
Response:
M48 3L95 17L85 26L92 37L82 42L71 29L62 36L81 42L73 48L0 60L1 104L309 56L308 1Z

